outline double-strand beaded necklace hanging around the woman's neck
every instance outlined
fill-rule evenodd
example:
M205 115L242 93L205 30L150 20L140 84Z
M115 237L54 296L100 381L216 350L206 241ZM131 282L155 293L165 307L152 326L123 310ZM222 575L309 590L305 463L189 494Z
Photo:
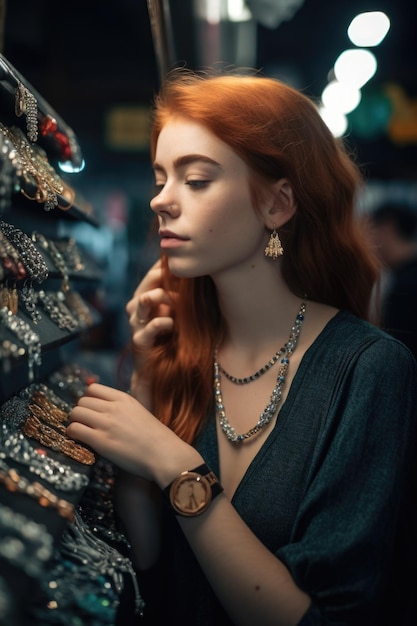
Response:
M278 350L278 352L276 352L274 356L263 367L261 367L257 372L255 372L255 374L252 374L251 376L247 376L245 378L237 378L235 376L232 376L231 374L228 374L220 366L217 360L218 350L216 348L214 353L214 401L216 407L216 416L219 420L222 431L224 432L228 440L232 443L241 443L242 441L246 441L250 437L253 437L264 426L269 424L272 417L275 415L282 398L282 388L285 383L285 374L287 373L288 365L290 362L289 357L294 352L297 346L298 337L300 335L301 327L304 321L305 310L306 305L303 302L301 304L299 312L297 313L297 317L295 318L294 325L291 328L290 336L287 343L280 350ZM280 361L280 368L276 378L275 387L272 390L272 394L268 404L260 414L255 426L253 426L246 433L238 434L233 426L231 426L231 424L229 423L229 420L227 419L225 413L221 390L221 374L223 373L226 378L228 378L232 383L235 383L236 385L245 385L253 382L254 380L257 380L260 376L262 376L262 374L265 374L265 372L267 372L278 361L280 357L282 357Z

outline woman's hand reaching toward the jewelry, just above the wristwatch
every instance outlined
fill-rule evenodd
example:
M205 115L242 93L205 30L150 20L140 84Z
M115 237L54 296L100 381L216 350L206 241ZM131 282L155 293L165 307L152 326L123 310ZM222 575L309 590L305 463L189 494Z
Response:
M202 462L194 448L118 389L93 383L72 409L70 419L69 437L160 487Z

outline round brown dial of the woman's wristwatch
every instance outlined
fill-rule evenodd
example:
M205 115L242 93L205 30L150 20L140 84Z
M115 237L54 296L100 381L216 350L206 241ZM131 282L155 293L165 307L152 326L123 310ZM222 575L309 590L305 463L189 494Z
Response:
M187 472L173 482L170 498L172 506L181 515L198 515L211 502L211 487L204 476Z

